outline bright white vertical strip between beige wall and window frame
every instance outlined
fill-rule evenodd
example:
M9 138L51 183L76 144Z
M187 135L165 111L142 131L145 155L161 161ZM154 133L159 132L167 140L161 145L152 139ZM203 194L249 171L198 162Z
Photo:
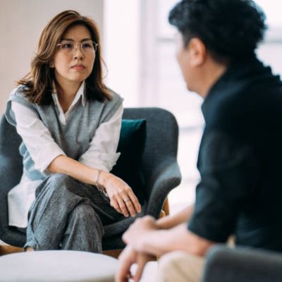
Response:
M126 107L142 104L140 54L146 42L140 38L141 1L104 0L106 85L121 94Z

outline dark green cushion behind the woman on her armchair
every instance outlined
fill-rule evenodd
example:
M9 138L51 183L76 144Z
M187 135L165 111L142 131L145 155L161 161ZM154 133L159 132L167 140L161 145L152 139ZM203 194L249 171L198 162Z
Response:
M111 171L130 185L141 204L145 200L144 180L140 171L145 142L146 120L123 119L117 149L121 156Z

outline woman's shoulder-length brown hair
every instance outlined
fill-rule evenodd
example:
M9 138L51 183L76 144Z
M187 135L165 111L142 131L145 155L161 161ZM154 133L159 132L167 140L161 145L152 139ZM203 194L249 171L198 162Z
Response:
M23 92L27 99L39 105L51 104L51 93L55 82L54 69L50 63L57 50L57 44L61 42L63 34L69 27L85 25L90 31L92 40L98 43L92 73L85 80L86 97L88 100L110 100L111 94L103 83L99 30L91 18L81 16L76 11L63 11L52 18L44 27L37 47L37 54L32 59L30 72L18 81L18 85L25 85Z

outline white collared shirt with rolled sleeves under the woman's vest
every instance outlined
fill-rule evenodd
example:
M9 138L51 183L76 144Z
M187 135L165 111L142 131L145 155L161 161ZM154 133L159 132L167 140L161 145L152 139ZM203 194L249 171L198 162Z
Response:
M56 109L59 111L59 121L66 124L68 116L73 110L73 106L81 99L82 106L85 106L86 97L84 94L85 83L83 82L71 106L66 113L63 113L58 95L52 94ZM56 144L51 134L39 119L37 114L26 106L17 102L12 102L11 108L16 118L16 130L23 138L30 156L35 161L35 168L49 174L47 168L51 162L59 155L66 155ZM120 153L116 152L121 131L121 118L123 106L121 105L114 116L97 128L94 137L90 142L90 147L80 156L80 163L92 168L100 168L103 171L111 171L116 164ZM41 181L32 181L23 176L20 183L8 193L8 216L9 225L25 228L27 226L27 213L30 205L35 199L35 190Z

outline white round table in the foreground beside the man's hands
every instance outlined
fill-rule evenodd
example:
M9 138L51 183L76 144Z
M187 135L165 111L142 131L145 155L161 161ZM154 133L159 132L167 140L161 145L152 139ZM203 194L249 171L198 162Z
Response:
M0 281L114 281L118 260L78 251L20 252L0 257Z

